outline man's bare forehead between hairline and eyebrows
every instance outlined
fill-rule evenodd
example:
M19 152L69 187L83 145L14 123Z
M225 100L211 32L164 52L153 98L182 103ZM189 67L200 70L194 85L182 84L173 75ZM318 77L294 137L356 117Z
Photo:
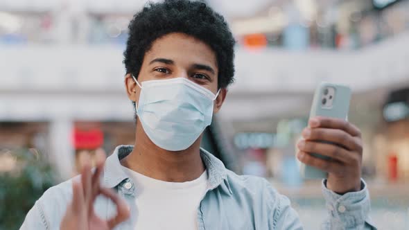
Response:
M217 67L216 54L210 46L184 33L170 33L156 39L144 59L150 62L157 57L173 60L176 64L198 63Z

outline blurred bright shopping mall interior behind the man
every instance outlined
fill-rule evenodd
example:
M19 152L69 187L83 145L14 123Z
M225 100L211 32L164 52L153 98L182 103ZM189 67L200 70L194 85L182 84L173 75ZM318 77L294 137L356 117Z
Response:
M347 84L374 222L409 229L409 1L206 2L238 43L236 82L204 148L238 173L268 177L306 229L318 229L320 182L299 176L295 140L317 84ZM128 22L145 3L0 1L0 229L75 175L81 154L133 143L122 53Z

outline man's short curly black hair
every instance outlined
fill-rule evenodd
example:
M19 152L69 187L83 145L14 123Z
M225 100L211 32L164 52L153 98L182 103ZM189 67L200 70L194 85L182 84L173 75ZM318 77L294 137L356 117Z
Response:
M143 57L156 39L169 33L184 33L209 45L216 53L218 88L226 88L233 82L236 42L223 16L206 3L189 0L150 2L134 15L128 28L128 42L123 52L127 74L139 75Z

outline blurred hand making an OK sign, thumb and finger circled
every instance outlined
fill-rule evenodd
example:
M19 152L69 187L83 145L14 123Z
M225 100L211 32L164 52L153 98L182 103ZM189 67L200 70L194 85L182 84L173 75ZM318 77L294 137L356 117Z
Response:
M89 159L81 170L81 180L72 182L73 199L62 218L60 230L107 230L127 220L130 215L128 205L110 188L103 188L100 176L105 163L105 154L96 152L96 170L92 173ZM94 201L98 195L108 197L116 205L116 216L110 220L99 218L94 212Z

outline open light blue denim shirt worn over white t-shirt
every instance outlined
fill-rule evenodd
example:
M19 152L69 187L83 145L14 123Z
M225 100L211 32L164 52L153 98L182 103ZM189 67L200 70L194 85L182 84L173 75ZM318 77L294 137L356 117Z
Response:
M133 201L138 188L119 162L132 148L132 145L118 146L107 158L101 177L103 186L114 188L130 206L130 218L115 229L133 229L138 221ZM198 207L200 230L303 229L290 200L279 194L266 179L236 175L209 152L200 150L200 155L209 178L207 193ZM317 220L323 221L322 229L375 229L368 222L370 202L365 182L362 191L342 196L329 191L324 184L322 191L329 216L327 220ZM49 188L28 212L21 229L59 229L71 197L71 180ZM112 201L102 196L97 197L94 209L101 218L110 218L116 212Z

